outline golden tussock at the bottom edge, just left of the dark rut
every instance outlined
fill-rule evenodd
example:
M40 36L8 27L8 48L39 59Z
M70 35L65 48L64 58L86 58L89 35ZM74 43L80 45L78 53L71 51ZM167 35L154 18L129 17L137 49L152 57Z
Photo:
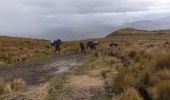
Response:
M134 88L128 89L116 97L116 100L143 100Z

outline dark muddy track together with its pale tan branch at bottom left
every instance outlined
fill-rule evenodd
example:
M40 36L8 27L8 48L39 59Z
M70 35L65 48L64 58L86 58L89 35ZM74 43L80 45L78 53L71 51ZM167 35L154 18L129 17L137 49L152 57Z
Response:
M28 85L28 91L16 95L10 100L42 100L47 95L48 81L69 68L83 62L80 54L53 56L34 63L18 64L0 68L0 77L6 81L21 78Z

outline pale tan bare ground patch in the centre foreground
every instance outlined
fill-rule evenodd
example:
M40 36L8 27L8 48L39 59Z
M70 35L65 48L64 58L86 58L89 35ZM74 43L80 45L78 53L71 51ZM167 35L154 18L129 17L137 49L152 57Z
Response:
M88 75L72 76L70 78L70 87L72 87L72 96L70 100L90 100L91 90L100 89L104 85L104 81L99 77Z

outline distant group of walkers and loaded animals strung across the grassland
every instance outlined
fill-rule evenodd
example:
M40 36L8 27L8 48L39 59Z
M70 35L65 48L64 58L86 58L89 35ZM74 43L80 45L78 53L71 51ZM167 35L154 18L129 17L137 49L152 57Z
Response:
M62 44L61 39L57 39L57 40L51 41L51 46L52 46L52 47L55 47L55 52L60 52L60 50L61 50L61 48L60 48L61 44ZM82 54L85 54L85 53L86 53L86 49L90 49L91 52L95 52L97 45L99 45L99 43L98 43L96 40L88 41L86 45L85 45L85 43L84 43L83 41L81 41L81 42L80 42L80 50L81 50L81 53L82 53ZM110 42L109 46L110 46L110 47L118 46L118 43Z

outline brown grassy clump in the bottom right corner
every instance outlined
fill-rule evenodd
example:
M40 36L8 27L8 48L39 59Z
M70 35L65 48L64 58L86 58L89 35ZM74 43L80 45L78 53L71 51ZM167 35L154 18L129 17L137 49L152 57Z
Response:
M156 98L158 100L170 99L170 80L160 81L155 88L156 88Z

